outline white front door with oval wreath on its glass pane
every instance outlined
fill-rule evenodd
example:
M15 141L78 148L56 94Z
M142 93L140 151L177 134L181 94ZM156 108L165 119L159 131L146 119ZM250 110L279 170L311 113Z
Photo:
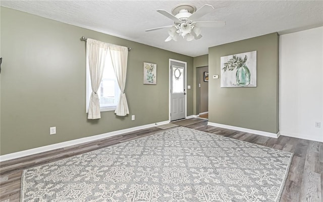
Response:
M170 120L186 118L186 63L170 60Z

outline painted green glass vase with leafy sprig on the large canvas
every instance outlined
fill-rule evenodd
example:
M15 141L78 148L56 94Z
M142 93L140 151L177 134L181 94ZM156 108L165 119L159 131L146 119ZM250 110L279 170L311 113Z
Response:
M242 59L241 57L237 57L235 55L232 58L224 63L223 70L226 71L233 71L237 70L236 72L236 81L238 86L248 86L250 84L250 71L246 65L247 56Z

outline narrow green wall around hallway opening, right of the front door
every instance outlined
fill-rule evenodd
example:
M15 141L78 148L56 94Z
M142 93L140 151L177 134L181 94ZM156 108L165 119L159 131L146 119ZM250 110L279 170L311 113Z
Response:
M199 100L198 100L198 67L208 66L208 54L194 57L193 59L193 89L194 89L194 97L193 97L193 114L199 114Z

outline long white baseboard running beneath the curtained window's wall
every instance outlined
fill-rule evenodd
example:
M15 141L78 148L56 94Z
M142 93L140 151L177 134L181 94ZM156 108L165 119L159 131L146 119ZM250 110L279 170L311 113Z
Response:
M41 146L41 147L37 147L37 148L18 151L15 153L0 156L0 162L12 160L12 159L18 159L18 158L26 157L26 156L30 156L30 155L35 155L35 154L39 154L39 153L42 153L45 151L50 151L50 150L54 150L54 149L58 149L58 148L66 147L66 146L72 146L72 145L76 145L76 144L80 144L80 143L90 142L93 140L111 137L114 135L120 135L123 133L132 132L135 130L150 128L150 127L153 127L156 125L163 125L163 124L167 124L169 122L170 121L152 123L152 124L147 124L147 125L143 125L143 126L137 126L137 127L133 127L133 128L127 128L127 129L123 129L123 130L112 131L112 132L94 135L94 136L90 136L90 137L83 137L83 138L74 139L74 140L70 140L70 141L65 141L65 142L60 142L60 143L56 143L56 144L50 144L50 145Z

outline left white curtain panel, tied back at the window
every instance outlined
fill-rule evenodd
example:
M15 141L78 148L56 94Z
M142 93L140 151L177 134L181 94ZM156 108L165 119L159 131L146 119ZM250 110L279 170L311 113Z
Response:
M90 96L88 119L100 119L100 102L97 90L102 80L106 55L109 54L109 43L88 38L86 40L86 59L91 78L92 93Z

